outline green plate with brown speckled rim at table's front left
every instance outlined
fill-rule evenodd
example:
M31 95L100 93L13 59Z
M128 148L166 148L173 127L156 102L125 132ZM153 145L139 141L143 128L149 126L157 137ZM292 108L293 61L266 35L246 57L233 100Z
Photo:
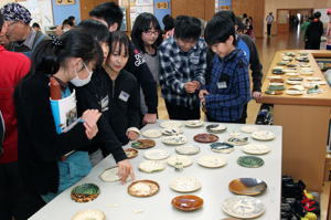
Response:
M84 184L72 190L71 197L76 202L88 202L95 200L100 193L98 186L94 184Z

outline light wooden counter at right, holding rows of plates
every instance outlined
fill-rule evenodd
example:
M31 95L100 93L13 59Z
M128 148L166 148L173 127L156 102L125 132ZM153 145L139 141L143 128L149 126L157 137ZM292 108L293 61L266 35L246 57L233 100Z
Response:
M267 72L267 77L273 74L273 67L282 60L282 54L290 51L279 51ZM321 77L321 73L314 57L331 57L330 51L298 51L295 53L308 53L309 64L314 70L313 75ZM292 62L296 63L296 62ZM303 83L308 82L302 76ZM281 75L286 81L287 75ZM263 92L267 90L269 80L263 84ZM286 84L286 87L290 85ZM295 179L302 179L308 189L321 191L323 184L324 158L329 133L329 119L331 109L331 90L328 85L321 85L322 94L303 94L299 96L267 95L263 94L261 103L274 104L274 124L281 125L284 129L282 143L282 174L291 175Z

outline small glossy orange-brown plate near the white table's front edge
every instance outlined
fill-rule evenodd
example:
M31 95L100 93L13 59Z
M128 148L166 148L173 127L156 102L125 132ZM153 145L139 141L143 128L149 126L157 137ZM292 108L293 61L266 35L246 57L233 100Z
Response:
M181 211L195 211L202 208L203 199L193 195L184 195L174 197L171 203Z

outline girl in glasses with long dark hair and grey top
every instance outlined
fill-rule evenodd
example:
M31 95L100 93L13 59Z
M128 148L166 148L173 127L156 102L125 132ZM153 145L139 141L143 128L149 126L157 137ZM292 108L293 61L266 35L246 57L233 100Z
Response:
M158 48L162 43L161 28L158 19L151 13L141 13L135 20L131 39L159 85L160 62ZM145 96L140 88L140 106L142 117L148 113Z

